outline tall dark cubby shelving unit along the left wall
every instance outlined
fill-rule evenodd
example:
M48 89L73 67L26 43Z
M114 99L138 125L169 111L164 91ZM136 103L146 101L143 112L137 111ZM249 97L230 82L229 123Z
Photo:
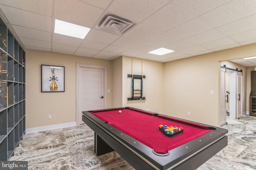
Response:
M0 19L0 160L14 155L25 123L25 52Z

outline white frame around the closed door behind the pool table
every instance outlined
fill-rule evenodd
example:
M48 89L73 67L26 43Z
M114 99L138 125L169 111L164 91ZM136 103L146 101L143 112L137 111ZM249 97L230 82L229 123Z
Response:
M79 110L80 110L80 99L79 99L80 68L96 68L96 69L104 70L104 108L107 108L107 106L108 106L107 66L76 63L76 125L77 126L79 125L79 117L82 115L82 113L79 113Z

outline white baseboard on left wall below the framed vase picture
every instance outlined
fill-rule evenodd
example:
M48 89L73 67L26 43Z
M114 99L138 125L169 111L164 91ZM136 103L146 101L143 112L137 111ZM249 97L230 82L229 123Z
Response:
M58 124L58 125L49 125L49 126L28 128L28 129L26 129L26 134L42 132L42 131L49 131L49 130L60 129L60 128L65 128L65 127L72 127L72 126L76 126L75 121L70 122L70 123L62 123L62 124Z

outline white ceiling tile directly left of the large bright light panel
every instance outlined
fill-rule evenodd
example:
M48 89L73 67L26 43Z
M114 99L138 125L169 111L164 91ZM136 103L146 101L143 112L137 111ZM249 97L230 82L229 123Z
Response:
M52 32L51 17L11 8L8 6L1 6L1 8L11 24ZM17 16L22 16L22 20Z

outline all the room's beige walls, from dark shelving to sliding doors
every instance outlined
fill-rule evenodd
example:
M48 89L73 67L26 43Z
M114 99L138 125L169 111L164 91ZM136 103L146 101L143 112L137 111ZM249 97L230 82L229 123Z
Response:
M149 109L218 126L220 62L254 56L255 49L256 44L251 44L168 63L125 56L108 61L26 50L26 128L76 121L76 63L108 67L108 107ZM142 74L143 70L146 75L143 80L146 100L127 100L131 97L131 79L127 78L127 74L132 72L132 61L133 74ZM41 92L41 64L65 66L65 92ZM249 111L249 70L252 69L243 72L243 86L247 88L243 88L243 111ZM210 95L210 90L214 91L214 95ZM52 119L48 119L49 114Z

